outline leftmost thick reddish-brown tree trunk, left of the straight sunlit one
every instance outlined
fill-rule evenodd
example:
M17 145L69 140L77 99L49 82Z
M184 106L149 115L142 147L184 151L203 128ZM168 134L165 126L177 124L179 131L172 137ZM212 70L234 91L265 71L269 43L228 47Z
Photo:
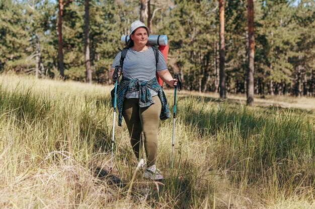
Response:
M61 78L64 78L64 64L63 64L63 52L62 52L62 0L58 0L58 55L59 55L59 70Z

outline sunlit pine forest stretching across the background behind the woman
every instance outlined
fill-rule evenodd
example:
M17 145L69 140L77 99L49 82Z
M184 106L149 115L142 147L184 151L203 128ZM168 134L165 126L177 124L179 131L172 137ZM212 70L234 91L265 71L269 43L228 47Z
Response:
M168 36L188 91L314 96L315 2L254 1L250 32L251 2L2 0L0 72L108 84L120 37L141 20Z

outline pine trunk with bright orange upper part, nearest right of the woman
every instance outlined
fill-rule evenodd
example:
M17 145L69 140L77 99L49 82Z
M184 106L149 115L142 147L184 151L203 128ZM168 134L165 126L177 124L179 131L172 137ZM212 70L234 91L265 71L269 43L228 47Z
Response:
M219 16L220 16L220 98L226 97L225 91L225 40L224 40L224 4L223 0L219 0Z

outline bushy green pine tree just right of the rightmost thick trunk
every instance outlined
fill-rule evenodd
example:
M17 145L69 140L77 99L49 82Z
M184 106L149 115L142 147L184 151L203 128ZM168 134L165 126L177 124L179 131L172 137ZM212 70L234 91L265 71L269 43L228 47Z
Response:
M269 94L283 94L286 89L283 84L291 82L293 66L289 58L295 54L292 49L297 41L296 28L291 24L294 8L284 1L263 1L261 4L263 16L258 42L263 47L260 53L265 59L261 64L264 83Z

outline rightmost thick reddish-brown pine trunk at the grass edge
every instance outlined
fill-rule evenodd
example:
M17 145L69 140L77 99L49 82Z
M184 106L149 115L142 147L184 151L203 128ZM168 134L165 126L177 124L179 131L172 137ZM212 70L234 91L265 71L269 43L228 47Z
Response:
M247 105L254 105L254 56L255 56L255 39L254 39L254 2L248 0L248 51L249 66L247 73Z

